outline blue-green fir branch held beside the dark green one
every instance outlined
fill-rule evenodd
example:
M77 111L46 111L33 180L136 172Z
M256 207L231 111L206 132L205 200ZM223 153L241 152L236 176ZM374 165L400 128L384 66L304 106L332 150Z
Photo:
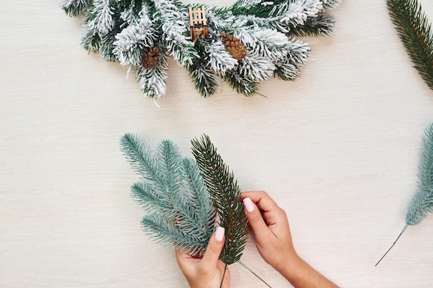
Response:
M141 221L145 233L161 244L203 256L216 212L196 162L182 157L170 140L151 151L140 137L127 133L120 147L140 175L131 195L147 211Z

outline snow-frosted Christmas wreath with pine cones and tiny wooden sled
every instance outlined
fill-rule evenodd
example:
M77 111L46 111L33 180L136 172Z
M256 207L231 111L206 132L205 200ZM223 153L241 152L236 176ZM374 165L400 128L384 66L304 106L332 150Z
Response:
M330 35L328 10L341 0L238 0L230 7L176 0L60 0L70 16L84 15L82 46L136 69L147 97L166 92L167 57L185 67L208 97L219 77L246 96L274 75L294 80L310 48L295 36Z

